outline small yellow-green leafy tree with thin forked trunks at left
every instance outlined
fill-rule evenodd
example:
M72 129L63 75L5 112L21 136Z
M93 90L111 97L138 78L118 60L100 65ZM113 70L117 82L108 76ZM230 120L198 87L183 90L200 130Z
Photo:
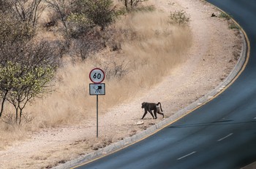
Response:
M15 107L16 123L20 124L26 103L47 91L46 84L52 79L53 71L51 66L21 66L10 61L7 66L0 67L0 82L5 86L1 90L4 94L2 105L7 100Z

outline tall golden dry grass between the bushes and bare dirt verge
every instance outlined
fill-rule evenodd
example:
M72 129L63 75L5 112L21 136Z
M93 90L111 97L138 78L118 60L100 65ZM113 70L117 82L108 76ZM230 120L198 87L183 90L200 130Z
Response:
M76 124L94 116L96 96L89 95L89 72L107 62L124 62L127 74L105 79L106 95L99 96L100 113L160 82L162 76L187 59L184 53L192 39L189 28L170 25L167 19L162 12L127 15L115 25L120 32L121 52L104 51L84 62L64 59L64 66L56 74L54 92L26 108L35 117L26 128ZM6 133L3 126L0 122L0 143Z

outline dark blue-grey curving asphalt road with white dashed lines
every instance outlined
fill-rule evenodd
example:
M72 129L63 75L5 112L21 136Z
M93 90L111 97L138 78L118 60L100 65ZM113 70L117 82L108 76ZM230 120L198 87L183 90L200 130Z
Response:
M78 168L241 168L256 161L256 0L209 0L244 28L250 57L224 93L125 149Z

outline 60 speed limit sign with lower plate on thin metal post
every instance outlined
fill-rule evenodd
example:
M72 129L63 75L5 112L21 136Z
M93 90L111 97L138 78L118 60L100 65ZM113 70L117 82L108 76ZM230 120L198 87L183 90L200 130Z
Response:
M103 80L105 79L105 73L100 68L94 68L91 70L89 75L91 82L89 84L89 93L90 95L96 95L96 116L97 116L97 138L99 136L99 112L98 112L98 106L99 106L99 98L98 95L105 95L105 83Z

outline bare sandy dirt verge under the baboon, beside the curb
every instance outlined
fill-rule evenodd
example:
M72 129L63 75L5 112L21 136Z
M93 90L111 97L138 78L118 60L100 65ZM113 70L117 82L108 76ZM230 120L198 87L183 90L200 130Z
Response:
M161 116L152 119L150 114L146 119L140 119L143 101L161 102L165 117L170 117L225 79L241 52L238 31L228 28L223 18L211 17L218 10L205 1L152 1L163 12L184 9L190 15L193 42L187 52L189 59L165 76L162 82L145 89L140 98L113 107L99 117L99 138L96 138L96 117L80 125L45 129L0 151L0 168L52 168L160 122ZM100 97L105 96L99 96L99 101Z

